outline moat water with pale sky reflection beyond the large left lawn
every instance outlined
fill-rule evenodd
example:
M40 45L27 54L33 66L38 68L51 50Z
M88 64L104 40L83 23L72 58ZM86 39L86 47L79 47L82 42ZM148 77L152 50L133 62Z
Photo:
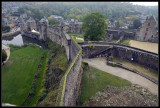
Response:
M5 45L13 44L17 46L22 46L24 44L33 43L41 46L42 48L47 48L43 41L38 41L36 39L32 39L26 36L22 36L21 34L10 37L2 37L2 43Z

